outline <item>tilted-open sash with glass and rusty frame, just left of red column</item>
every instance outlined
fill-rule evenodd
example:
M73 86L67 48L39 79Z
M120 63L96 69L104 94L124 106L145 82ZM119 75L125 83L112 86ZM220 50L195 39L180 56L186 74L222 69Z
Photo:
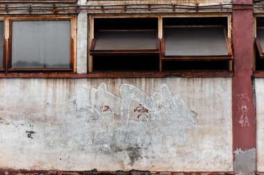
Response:
M165 26L164 60L231 60L223 26Z

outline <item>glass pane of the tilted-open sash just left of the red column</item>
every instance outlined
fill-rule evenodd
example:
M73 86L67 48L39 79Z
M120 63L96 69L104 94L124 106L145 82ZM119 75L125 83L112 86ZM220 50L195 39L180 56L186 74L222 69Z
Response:
M223 27L164 28L166 56L228 55Z

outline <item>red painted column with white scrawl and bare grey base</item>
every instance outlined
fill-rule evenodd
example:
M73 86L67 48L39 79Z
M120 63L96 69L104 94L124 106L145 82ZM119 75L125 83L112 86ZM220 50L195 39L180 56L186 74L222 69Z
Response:
M252 1L234 0L233 3L251 4ZM254 174L256 171L256 123L254 89L251 82L254 60L253 10L250 6L233 6L232 19L233 167L234 172L238 174Z

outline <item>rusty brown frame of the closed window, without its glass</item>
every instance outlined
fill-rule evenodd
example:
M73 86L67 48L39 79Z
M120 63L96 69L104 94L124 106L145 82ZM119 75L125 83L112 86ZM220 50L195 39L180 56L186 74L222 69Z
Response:
M4 20L4 57L3 69L1 72L76 72L76 16L19 16L19 17L3 17ZM69 38L69 68L13 68L11 65L11 50L12 50L12 22L30 22L30 21L70 21L70 38Z

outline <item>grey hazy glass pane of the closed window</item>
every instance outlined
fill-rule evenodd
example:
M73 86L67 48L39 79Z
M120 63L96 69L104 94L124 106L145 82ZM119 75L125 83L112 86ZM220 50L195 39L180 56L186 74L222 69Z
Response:
M12 67L69 68L70 21L12 23Z

